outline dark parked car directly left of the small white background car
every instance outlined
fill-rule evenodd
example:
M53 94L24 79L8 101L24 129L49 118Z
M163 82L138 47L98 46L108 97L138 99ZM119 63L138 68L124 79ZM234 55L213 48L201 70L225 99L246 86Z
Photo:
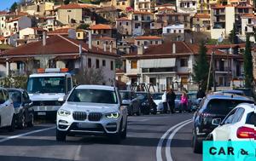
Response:
M156 105L152 95L148 92L136 92L136 94L143 114L149 114L150 112L156 114Z

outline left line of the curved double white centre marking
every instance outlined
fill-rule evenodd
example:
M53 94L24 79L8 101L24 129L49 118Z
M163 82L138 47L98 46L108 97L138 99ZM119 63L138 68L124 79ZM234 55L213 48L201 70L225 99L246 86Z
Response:
M164 135L161 136L160 141L158 142L158 145L157 145L157 147L156 147L156 160L157 160L157 161L162 161L162 160L163 160L163 159L162 159L161 148L162 148L162 146L163 146L164 140L166 139L166 136L169 135L169 133L170 133L173 129L177 128L179 125L186 124L186 123L189 122L190 120L191 120L191 119L188 119L188 120L183 121L183 122L180 123L180 124L176 124L176 125L172 126L170 129L168 129L168 130L166 131L166 133L165 133Z

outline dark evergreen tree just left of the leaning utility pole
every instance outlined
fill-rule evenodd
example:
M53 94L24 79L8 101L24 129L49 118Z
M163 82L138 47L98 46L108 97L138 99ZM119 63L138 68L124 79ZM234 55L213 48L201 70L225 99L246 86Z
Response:
M195 61L193 79L200 84L202 90L207 89L207 77L209 72L209 63L207 61L207 47L201 41L198 59Z

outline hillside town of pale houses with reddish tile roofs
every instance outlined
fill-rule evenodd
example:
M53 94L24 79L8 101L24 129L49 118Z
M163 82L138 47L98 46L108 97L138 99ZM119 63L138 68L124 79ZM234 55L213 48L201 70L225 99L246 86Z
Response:
M255 55L253 0L21 2L0 12L1 77L40 67L102 68L102 84L189 89L204 41L207 59L215 55L215 85L230 87L244 77L246 36Z

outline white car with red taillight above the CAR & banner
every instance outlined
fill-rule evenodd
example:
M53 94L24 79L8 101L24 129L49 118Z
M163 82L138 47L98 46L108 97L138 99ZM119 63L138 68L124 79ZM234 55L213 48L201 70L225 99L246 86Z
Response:
M208 135L212 141L253 141L256 137L256 106L243 103L234 108L221 122L221 118L212 119L218 126Z

